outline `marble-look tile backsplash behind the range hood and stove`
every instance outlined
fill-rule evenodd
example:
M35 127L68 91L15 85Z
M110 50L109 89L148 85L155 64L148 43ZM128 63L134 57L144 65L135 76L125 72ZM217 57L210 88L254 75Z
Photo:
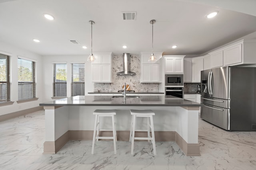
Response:
M117 72L123 71L123 57L112 57L112 83L94 83L94 91L112 91L117 92L122 90L122 85L126 82L129 84L130 90L136 92L152 92L159 91L159 83L140 83L140 57L136 55L131 56L131 71L136 72L135 76L120 76L116 75Z

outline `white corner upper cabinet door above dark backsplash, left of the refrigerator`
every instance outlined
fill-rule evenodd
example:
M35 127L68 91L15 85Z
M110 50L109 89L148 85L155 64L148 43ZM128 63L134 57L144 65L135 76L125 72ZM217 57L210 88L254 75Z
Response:
M201 71L204 69L204 59L192 59L192 82L201 82Z

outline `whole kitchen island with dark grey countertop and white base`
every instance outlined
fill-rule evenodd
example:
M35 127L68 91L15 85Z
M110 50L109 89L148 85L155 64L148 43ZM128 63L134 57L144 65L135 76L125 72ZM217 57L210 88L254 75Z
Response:
M115 119L119 141L129 140L130 109L152 109L156 113L153 117L156 141L175 141L186 155L200 155L198 110L202 105L196 102L173 96L126 99L112 96L74 96L45 102L40 106L45 109L44 153L56 153L69 140L92 140L95 118L92 112L95 109L117 110ZM108 119L103 122L104 129L111 127ZM144 129L142 121L136 123L136 128Z

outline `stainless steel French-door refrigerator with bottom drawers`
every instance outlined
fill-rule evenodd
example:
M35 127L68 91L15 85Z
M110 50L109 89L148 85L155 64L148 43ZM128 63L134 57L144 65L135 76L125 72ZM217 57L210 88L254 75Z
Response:
M256 131L256 68L201 71L200 117L230 131Z

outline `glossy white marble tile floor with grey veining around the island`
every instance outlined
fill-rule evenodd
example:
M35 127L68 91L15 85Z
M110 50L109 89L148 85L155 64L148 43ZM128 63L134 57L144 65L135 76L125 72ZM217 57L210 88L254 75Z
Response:
M0 170L256 170L256 132L229 132L199 118L201 156L186 156L175 142L152 145L69 141L56 154L42 154L44 111L0 122Z

